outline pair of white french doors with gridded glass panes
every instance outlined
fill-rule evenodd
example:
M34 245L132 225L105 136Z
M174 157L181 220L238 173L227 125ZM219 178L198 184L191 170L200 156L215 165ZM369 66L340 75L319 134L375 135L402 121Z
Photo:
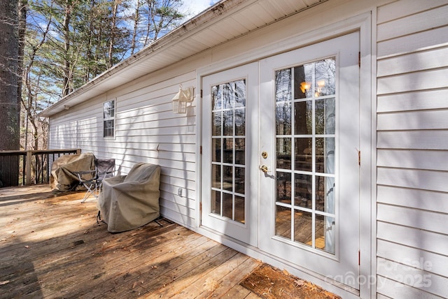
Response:
M202 78L202 226L358 285L359 34Z

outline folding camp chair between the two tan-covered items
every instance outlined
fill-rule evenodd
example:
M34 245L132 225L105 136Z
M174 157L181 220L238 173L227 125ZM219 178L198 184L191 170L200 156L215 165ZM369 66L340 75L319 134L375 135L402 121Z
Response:
M115 159L95 159L94 170L77 172L79 183L87 189L81 203L84 203L90 195L98 198L103 180L107 177L113 177L114 172Z

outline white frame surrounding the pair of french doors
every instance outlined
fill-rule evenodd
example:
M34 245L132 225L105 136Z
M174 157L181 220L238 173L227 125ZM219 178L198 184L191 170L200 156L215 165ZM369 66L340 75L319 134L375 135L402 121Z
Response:
M376 6L375 6L376 7ZM359 293L353 293L350 289L345 289L341 285L333 285L325 282L325 277L316 276L315 273L309 272L304 268L297 267L286 260L277 258L275 256L270 256L255 247L248 247L246 245L241 245L235 240L225 238L223 235L217 235L214 232L208 231L200 227L201 219L201 196L200 190L202 187L202 173L201 173L201 163L202 155L200 154L202 135L200 130L197 130L196 134L196 144L197 144L197 154L196 154L196 173L197 173L197 205L195 217L197 219L196 225L192 228L197 233L207 236L217 242L221 242L223 245L236 249L248 254L254 258L258 258L262 261L270 263L279 268L284 268L288 270L293 275L300 276L302 279L307 279L310 282L316 284L324 285L325 289L328 291L335 291L345 294L347 298L356 298L360 296L361 298L374 298L376 297L376 286L375 284L370 284L372 279L377 278L376 270L376 182L374 178L377 175L376 171L376 105L377 99L375 96L376 92L376 50L374 26L372 26L372 20L376 20L376 10L375 7L372 10L367 9L367 13L356 15L351 17L349 12L347 12L347 17L344 15L340 16L340 22L334 24L325 25L318 29L310 29L309 31L297 32L295 36L289 36L287 39L276 41L271 44L263 45L262 48L255 48L248 52L244 52L239 55L235 55L223 61L216 61L213 64L209 64L204 67L197 68L196 75L196 127L200 128L202 126L202 103L201 103L201 88L202 88L202 77L204 75L209 75L218 71L223 71L232 66L238 66L241 64L246 64L248 61L255 61L261 59L262 57L269 57L274 54L279 54L281 52L286 52L288 50L293 50L295 48L300 48L303 45L309 45L314 43L314 41L323 41L325 39L340 36L351 31L360 31L360 117L365 119L366 126L360 127L360 137L365 141L361 144L361 165L360 165L360 279L367 279L367 283L360 284ZM353 297L355 296L355 297Z

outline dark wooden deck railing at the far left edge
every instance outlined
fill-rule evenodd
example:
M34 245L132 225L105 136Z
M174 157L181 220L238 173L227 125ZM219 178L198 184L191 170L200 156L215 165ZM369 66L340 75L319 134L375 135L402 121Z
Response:
M0 151L0 187L47 184L55 159L80 152L80 149Z

